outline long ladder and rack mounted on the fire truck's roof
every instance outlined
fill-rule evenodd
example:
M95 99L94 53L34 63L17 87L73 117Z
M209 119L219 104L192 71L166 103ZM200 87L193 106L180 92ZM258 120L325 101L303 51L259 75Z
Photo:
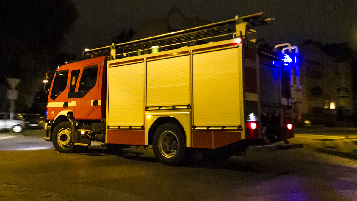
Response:
M151 53L149 50L159 49L165 51L176 49L182 46L192 46L211 41L219 41L220 37L242 37L255 32L255 26L268 24L273 18L262 19L262 12L243 17L236 16L235 19L225 20L203 26L193 27L179 31L173 31L166 34L150 36L144 39L112 44L95 49L86 49L83 51L84 56L110 56L111 59L121 58L125 56L136 56L140 54ZM249 26L246 29L247 25ZM247 30L247 31L246 31ZM253 33L255 34L255 33ZM221 39L222 40L222 39ZM226 39L223 39L226 40ZM251 40L249 38L249 40ZM255 37L254 37L255 40ZM157 50L159 51L159 50Z

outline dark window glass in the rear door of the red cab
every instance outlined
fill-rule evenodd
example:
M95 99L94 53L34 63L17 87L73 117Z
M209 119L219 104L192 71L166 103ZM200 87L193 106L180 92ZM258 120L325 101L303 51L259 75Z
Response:
M98 65L86 66L82 72L78 91L90 91L97 83Z

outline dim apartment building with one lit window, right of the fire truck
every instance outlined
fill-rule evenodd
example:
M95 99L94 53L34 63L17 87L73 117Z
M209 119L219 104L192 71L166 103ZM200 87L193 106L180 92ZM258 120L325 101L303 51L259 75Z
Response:
M352 71L316 44L299 46L303 120L312 124L346 126L353 111Z

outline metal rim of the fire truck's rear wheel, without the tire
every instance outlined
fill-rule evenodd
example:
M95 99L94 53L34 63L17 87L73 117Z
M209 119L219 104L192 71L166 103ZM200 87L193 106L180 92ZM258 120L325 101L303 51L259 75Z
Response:
M171 158L177 153L178 140L171 131L165 131L160 135L158 145L161 154L166 158Z

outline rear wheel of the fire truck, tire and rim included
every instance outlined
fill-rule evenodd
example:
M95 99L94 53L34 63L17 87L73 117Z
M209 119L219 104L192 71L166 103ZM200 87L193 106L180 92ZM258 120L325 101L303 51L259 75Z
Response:
M152 139L155 157L164 165L179 165L183 162L186 143L177 124L166 123L159 126Z

